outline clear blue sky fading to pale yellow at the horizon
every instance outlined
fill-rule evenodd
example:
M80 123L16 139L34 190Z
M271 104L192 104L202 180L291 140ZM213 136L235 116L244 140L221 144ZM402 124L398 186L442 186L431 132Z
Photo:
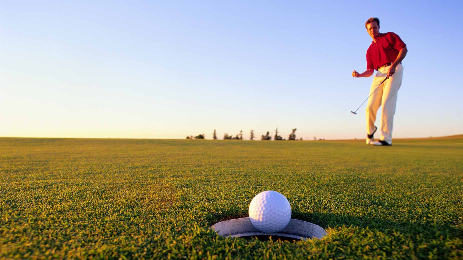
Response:
M0 0L0 136L365 138L380 19L407 44L394 138L463 134L461 1ZM381 110L380 110L381 111ZM376 125L379 127L380 114ZM379 136L376 136L379 137Z

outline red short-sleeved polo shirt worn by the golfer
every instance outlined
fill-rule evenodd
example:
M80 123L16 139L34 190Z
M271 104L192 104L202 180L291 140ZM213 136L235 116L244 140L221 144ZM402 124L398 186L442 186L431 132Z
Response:
M394 62L399 51L407 45L394 32L380 33L376 42L371 41L367 50L367 69L378 70L382 65Z

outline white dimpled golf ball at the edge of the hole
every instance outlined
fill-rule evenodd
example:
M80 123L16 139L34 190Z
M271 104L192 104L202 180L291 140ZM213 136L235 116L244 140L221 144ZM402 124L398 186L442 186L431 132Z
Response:
M256 229L265 233L277 232L288 225L291 205L279 192L261 192L249 204L249 218Z

